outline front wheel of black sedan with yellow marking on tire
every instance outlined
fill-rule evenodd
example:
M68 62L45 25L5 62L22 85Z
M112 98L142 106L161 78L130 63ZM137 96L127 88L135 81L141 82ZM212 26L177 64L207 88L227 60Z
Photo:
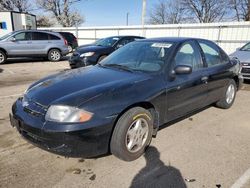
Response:
M125 112L117 121L110 151L124 161L139 158L150 144L153 134L153 118L149 111L135 107Z

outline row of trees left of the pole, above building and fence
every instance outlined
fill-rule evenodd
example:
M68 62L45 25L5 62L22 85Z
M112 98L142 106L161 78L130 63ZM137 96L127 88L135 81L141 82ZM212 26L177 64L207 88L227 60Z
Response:
M35 11L38 12L38 27L50 27L56 23L72 27L84 23L84 16L73 7L80 1L82 0L0 0L0 11Z

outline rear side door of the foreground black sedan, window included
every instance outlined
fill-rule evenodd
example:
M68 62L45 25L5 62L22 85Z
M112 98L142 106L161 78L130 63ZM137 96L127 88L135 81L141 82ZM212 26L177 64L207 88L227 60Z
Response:
M213 42L199 40L199 45L206 62L206 75L208 76L208 99L215 102L224 95L225 88L233 71L230 70L232 64L228 56Z

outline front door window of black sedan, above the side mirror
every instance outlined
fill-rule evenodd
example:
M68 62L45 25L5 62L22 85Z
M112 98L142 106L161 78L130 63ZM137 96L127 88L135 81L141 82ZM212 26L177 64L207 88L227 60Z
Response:
M182 45L175 56L175 66L188 65L196 71L203 67L199 49L193 42L187 42Z

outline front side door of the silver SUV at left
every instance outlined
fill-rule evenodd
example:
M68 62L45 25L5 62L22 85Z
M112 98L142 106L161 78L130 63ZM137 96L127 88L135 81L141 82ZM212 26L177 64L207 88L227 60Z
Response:
M31 32L20 32L13 36L15 41L9 40L6 49L11 56L29 55L31 47Z

